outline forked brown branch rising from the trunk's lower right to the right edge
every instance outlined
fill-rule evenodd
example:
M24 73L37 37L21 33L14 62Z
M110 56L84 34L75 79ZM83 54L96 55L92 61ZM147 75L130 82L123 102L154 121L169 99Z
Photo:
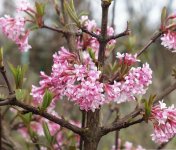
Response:
M168 94L173 92L175 89L176 89L176 82L173 85L171 85L170 87L168 87L167 89L165 89L161 95L157 96L154 104L156 104L159 100L162 100L165 96L167 96ZM109 132L113 132L115 130L119 130L122 128L127 128L131 125L134 125L136 123L140 123L140 122L144 121L144 118L140 118L136 121L132 121L135 117L139 116L140 113L143 111L144 111L144 108L141 106L138 109L135 109L130 114L126 115L124 118L119 119L117 122L114 122L111 125L102 127L102 129L101 129L102 134L105 135Z

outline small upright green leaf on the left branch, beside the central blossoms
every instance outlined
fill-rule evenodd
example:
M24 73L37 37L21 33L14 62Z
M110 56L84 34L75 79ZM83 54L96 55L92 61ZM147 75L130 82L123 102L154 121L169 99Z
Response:
M53 95L50 91L46 90L45 94L43 96L43 102L42 102L42 106L41 106L41 110L46 110L47 107L50 105L51 101L53 99Z

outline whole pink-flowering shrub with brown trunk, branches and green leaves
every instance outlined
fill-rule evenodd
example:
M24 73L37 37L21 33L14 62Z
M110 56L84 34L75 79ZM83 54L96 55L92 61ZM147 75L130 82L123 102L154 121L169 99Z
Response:
M85 150L95 150L102 136L142 121L153 123L154 133L151 136L156 143L169 142L175 136L175 108L166 107L166 104L161 101L159 104L156 103L176 89L176 84L169 88L164 96L156 98L150 95L149 99L141 99L152 84L152 70L148 63L142 64L142 61L138 59L140 54L160 37L161 44L175 52L176 25L170 23L176 18L175 14L167 16L164 8L159 33L141 51L136 54L117 52L115 60L107 63L106 60L118 44L116 39L130 34L128 26L124 32L115 35L114 29L107 25L111 0L102 0L101 27L98 27L94 20L89 20L88 16L78 15L73 1L63 1L64 10L62 16L59 15L60 23L64 24L64 27L69 24L68 20L64 19L64 13L67 12L76 25L76 31L73 33L45 24L44 3L36 2L34 8L26 1L22 1L21 4L22 6L18 7L17 11L26 13L27 17L12 18L5 15L0 18L0 29L3 34L15 42L21 52L26 52L31 48L28 44L28 36L34 29L27 29L27 23L34 25L35 29L46 28L59 32L68 42L72 35L76 37L73 39L74 50L61 47L53 54L52 71L50 75L40 73L41 81L39 86L32 86L30 100L25 97L26 90L23 88L25 68L9 65L16 84L16 89L13 91L6 76L2 50L0 52L0 71L9 90L9 98L0 99L2 102L0 106L13 105L23 109L24 112L21 112L15 107L17 111L14 112L23 121L22 126L19 126L17 130L27 141L33 142L38 149L58 150L67 148L67 145L72 143L67 140L70 138L71 141L75 141L75 149L79 146L80 149L84 147ZM58 12L58 4L54 4ZM30 104L21 102L26 99L30 101ZM67 99L79 106L82 112L82 124L72 120L67 121L65 116L61 117L58 114L57 101L62 99ZM109 126L101 124L100 110L103 105L130 101L136 102L136 110L124 118L117 116ZM67 133L62 127L73 131L79 137L74 134L69 136L69 132ZM40 145L39 137L44 137L48 145ZM112 149L120 148L143 149L141 146L135 148L129 142L119 147L115 145Z

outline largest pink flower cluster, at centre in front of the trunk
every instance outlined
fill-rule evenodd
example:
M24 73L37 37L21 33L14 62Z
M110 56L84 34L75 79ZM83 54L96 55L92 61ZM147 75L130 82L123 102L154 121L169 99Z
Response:
M98 81L101 72L87 52L83 52L79 60L76 54L62 47L53 58L51 76L41 73L40 87L32 88L36 103L41 103L46 89L54 93L54 100L67 96L84 110L94 111L104 103L103 84Z

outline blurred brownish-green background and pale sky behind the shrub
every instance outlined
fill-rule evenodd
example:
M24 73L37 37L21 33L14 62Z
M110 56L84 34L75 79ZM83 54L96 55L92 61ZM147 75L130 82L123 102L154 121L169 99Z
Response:
M33 2L31 0L31 2ZM48 1L50 2L50 1ZM114 2L113 2L114 3ZM113 3L110 7L109 25L112 25L112 11ZM116 32L123 31L126 27L126 22L129 21L132 35L130 37L123 37L117 39L115 51L121 52L137 52L150 39L153 33L159 28L160 13L163 6L166 6L170 13L175 12L176 2L174 0L156 0L156 1L142 1L142 0L116 0L115 20L114 25ZM1 1L1 16L4 14L13 15L15 12L15 5L18 4L16 0ZM91 19L95 19L99 24L101 20L101 2L100 0L75 0L77 11L84 10L89 13ZM174 8L175 7L175 8ZM57 23L59 19L52 9L52 4L47 5L47 14L45 19L48 23ZM27 53L20 53L17 46L0 34L0 46L5 50L5 61L9 61L14 65L29 64L27 72L26 87L31 88L32 84L38 85L39 72L45 71L47 74L51 71L52 55L61 46L67 47L67 42L61 34L40 29L35 31L30 36L32 49ZM159 94L169 85L174 82L171 77L173 67L176 67L176 54L171 53L160 45L160 40L157 40L141 57L142 62L148 62L153 70L153 84L150 86L147 95ZM12 80L10 73L9 78ZM0 76L1 77L1 76ZM12 80L13 82L13 80ZM3 84L0 78L0 84ZM6 91L0 88L0 91ZM175 103L176 92L171 93L165 98L168 104ZM74 108L73 108L74 107ZM134 109L134 104L122 104L119 106L121 117ZM104 106L102 110L102 120L107 117L108 106ZM73 120L80 119L80 112L78 107L72 103L62 101L58 103L59 114L68 116ZM69 112L72 112L71 114ZM78 115L79 114L79 115ZM112 115L115 116L115 114ZM105 120L104 119L104 120ZM112 119L109 119L109 122ZM152 126L146 123L134 125L128 129L120 131L120 138L122 142L130 141L134 145L142 145L146 149L155 149L157 145L151 140ZM111 133L103 137L99 150L109 150L114 144L115 134ZM176 139L172 140L166 147L167 149L176 148Z

